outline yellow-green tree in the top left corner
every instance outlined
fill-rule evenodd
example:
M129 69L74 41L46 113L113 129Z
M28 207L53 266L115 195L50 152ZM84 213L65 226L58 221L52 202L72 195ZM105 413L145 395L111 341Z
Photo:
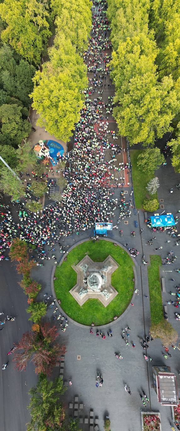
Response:
M50 36L48 2L42 0L4 0L0 16L6 22L1 39L30 63L40 64L43 44Z

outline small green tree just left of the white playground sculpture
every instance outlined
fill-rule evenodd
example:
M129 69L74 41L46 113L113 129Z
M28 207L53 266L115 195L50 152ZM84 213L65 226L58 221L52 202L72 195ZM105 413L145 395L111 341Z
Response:
M35 168L36 155L32 150L31 142L26 141L19 146L17 150L17 156L19 159L19 170L22 172Z

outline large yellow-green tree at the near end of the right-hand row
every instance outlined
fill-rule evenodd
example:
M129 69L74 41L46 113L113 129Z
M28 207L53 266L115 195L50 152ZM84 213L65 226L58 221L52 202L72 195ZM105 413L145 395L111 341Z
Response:
M121 135L130 145L154 144L171 131L170 123L179 109L178 92L172 76L158 82L155 41L139 33L119 42L110 62L116 92L113 109Z

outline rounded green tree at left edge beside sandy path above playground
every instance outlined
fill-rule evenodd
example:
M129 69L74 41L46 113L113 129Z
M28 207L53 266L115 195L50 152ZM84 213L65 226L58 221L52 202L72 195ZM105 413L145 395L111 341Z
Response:
M1 4L0 4L1 6ZM27 120L22 120L22 107L17 104L0 106L0 134L12 138L16 145L21 144L23 138L27 137L31 125Z

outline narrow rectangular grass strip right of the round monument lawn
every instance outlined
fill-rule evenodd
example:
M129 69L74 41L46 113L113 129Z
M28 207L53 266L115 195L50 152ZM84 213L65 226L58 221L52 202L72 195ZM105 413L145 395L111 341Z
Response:
M161 282L159 266L162 265L160 256L150 256L151 266L148 266L149 296L151 308L151 324L157 325L163 318Z

